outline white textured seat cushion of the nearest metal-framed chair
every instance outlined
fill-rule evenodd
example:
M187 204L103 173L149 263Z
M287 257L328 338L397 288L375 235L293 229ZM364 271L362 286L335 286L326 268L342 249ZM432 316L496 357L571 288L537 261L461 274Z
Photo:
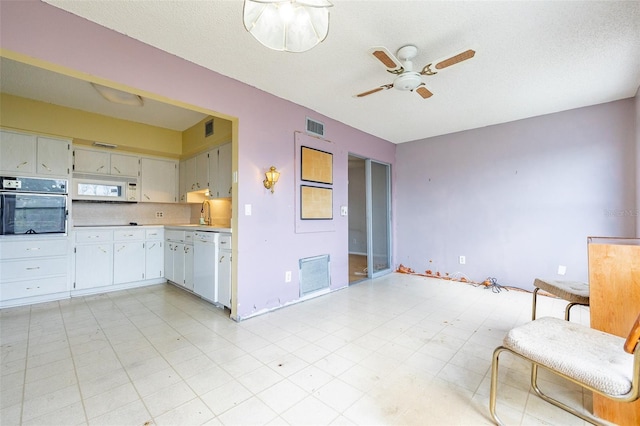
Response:
M605 394L631 390L633 355L624 339L581 324L543 317L509 331L504 346Z

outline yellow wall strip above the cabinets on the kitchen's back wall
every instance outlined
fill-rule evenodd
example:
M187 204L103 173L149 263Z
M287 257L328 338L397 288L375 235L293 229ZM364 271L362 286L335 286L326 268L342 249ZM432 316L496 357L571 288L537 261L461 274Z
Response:
M107 142L118 145L118 150L172 158L179 158L182 154L183 132L4 93L0 94L0 125L4 128L70 138L78 144Z

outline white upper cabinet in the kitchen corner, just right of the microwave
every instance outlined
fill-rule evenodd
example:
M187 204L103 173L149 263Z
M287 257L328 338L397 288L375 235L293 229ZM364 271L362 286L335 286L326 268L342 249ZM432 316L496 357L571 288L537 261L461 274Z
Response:
M156 158L141 159L141 202L175 203L178 201L178 162Z

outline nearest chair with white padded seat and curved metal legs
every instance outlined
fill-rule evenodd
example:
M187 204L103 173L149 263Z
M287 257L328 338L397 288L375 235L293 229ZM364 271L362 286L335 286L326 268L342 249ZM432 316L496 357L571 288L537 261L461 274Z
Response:
M581 419L597 424L588 416L542 393L538 387L538 367L564 377L584 389L619 402L640 397L640 315L626 340L581 324L559 318L543 317L509 331L502 346L493 352L489 411L498 425L496 414L498 358L504 351L532 364L531 387L543 400Z

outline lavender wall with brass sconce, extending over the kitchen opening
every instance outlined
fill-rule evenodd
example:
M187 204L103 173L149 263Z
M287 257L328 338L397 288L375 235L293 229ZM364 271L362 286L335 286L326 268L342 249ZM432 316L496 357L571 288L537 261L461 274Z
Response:
M302 257L329 254L331 287L347 285L348 221L339 207L347 205L348 153L393 164L395 145L50 5L1 7L3 49L238 118L238 318L298 299L295 271ZM294 232L294 131L304 129L305 116L323 121L336 146L332 232ZM282 172L275 194L262 186L271 165ZM246 204L251 216L243 215ZM285 284L287 270L294 280Z

